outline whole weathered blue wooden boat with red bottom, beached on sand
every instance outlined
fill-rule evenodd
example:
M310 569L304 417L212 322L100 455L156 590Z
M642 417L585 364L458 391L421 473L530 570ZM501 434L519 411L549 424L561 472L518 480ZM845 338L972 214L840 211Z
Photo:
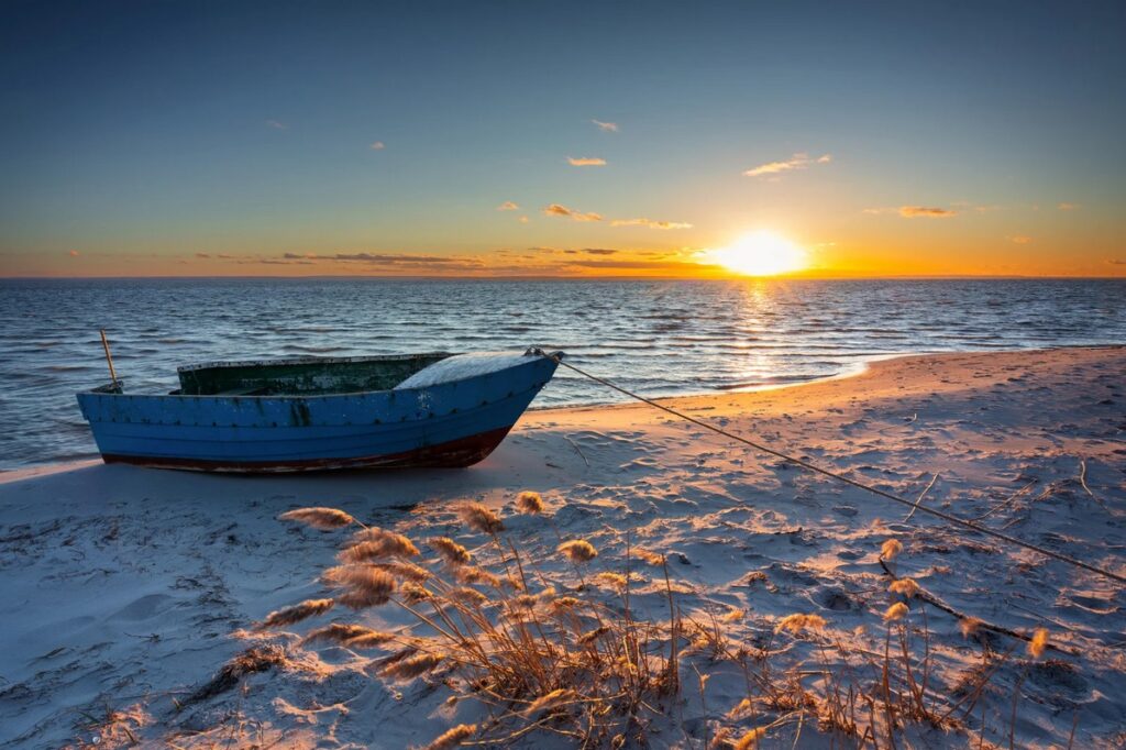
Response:
M470 466L555 373L538 349L216 361L168 395L78 394L106 463L213 472ZM116 376L115 376L116 377Z

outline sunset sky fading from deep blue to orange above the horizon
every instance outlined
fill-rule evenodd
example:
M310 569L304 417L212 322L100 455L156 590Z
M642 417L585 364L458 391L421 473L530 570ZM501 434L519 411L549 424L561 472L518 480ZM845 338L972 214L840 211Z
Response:
M8 2L0 27L0 276L713 277L781 245L803 276L1126 276L1121 2Z

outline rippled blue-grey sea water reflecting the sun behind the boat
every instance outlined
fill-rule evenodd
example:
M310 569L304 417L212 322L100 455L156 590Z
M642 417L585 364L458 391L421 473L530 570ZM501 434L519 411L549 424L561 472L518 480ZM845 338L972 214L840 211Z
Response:
M74 401L212 359L563 349L650 396L855 372L888 355L1126 343L1126 280L0 279L0 468L97 455ZM560 369L536 407L620 396Z

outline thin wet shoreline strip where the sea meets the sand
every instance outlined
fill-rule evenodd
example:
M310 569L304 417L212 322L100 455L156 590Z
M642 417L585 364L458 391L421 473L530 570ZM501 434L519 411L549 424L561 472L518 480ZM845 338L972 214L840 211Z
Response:
M743 394L754 394L754 393L768 393L775 391L785 391L788 389L803 389L815 386L821 383L832 383L837 381L849 381L855 378L860 378L867 375L875 367L883 365L885 363L895 363L901 360L910 360L913 358L933 358L933 357L954 357L964 355L974 356L989 356L989 355L1004 355L1004 354L1018 354L1018 352L1035 352L1035 351L1066 351L1071 349L1107 349L1117 350L1126 349L1126 343L1116 345L1105 345L1105 343L1075 343L1075 345L1064 345L1064 346L1053 346L1053 347L1035 347L1035 348L1015 348L1015 349L991 349L991 350L956 350L956 351L923 351L923 352L910 352L910 354L888 354L888 355L876 355L872 358L864 359L859 363L855 372L841 372L835 375L826 375L825 377L815 377L808 381L799 381L792 383L778 383L778 384L766 384L759 386L751 386L745 389L732 389L725 391L703 391L699 393L683 393L669 396L658 396L652 400L670 407L676 407L677 403L692 402L695 403L699 399L723 399L731 395L743 395ZM597 373L595 373L597 374ZM606 376L607 380L614 382L613 376ZM645 404L633 401L624 400L617 402L593 402L583 404L572 404L565 407L530 407L525 411L525 416L520 418L517 422L513 431L520 428L521 422L524 422L529 416L540 417L554 412L589 412L602 409L628 409L635 407L644 407ZM51 474L56 474L59 472L74 471L80 468L87 468L90 466L101 465L100 457L91 458L79 458L74 461L60 461L51 462L44 464L33 464L29 466L20 466L17 468L0 470L0 485L10 482L21 482L28 479L35 479L37 476L46 476ZM323 475L323 474L322 474Z

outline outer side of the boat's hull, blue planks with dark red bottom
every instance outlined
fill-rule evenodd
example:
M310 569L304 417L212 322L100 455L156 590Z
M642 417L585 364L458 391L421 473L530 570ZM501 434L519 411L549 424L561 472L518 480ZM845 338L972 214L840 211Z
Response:
M106 463L209 472L464 467L500 444L556 363L420 389L315 396L78 394Z

